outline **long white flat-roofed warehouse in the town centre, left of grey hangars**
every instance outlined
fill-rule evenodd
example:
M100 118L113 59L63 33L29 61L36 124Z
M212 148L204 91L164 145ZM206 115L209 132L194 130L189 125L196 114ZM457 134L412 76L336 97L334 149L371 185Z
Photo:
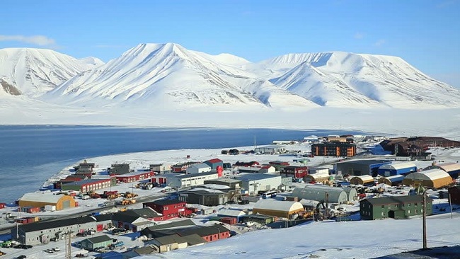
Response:
M241 188L248 191L249 195L256 195L260 190L277 189L281 185L281 176L268 173L248 173L238 176Z

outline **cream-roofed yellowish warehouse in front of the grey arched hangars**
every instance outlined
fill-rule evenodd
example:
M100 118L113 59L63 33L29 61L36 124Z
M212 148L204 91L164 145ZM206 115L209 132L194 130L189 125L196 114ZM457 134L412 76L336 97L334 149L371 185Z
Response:
M304 211L300 202L288 202L273 199L264 199L255 202L253 214L263 214L287 219L296 219L299 212Z

